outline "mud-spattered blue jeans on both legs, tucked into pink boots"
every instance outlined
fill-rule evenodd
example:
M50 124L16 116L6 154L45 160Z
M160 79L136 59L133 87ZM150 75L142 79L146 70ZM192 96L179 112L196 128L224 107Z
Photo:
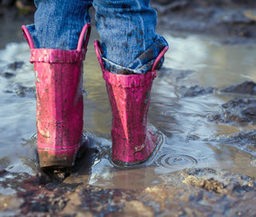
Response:
M106 69L115 74L144 74L168 45L155 33L157 13L149 2L35 0L35 24L27 27L37 48L75 50L82 27L90 22L88 9L93 5Z

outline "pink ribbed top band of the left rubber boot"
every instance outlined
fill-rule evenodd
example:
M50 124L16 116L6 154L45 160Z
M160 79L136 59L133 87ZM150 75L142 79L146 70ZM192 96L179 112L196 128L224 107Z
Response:
M86 49L57 50L57 49L31 49L30 63L75 63L85 60Z

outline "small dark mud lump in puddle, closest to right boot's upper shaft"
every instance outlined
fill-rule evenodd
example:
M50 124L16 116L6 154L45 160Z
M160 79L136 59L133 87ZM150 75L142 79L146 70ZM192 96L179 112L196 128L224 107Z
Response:
M212 94L214 90L215 89L212 87L202 88L199 85L195 85L190 88L187 88L185 86L182 86L181 88L179 88L179 91L182 94L182 97L195 97L198 95L208 95L208 94Z

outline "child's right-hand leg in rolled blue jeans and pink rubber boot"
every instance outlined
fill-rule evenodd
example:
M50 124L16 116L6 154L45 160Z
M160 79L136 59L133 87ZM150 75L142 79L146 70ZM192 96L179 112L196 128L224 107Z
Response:
M94 0L93 5L102 56L97 41L95 48L112 108L112 161L140 164L160 140L147 126L147 111L154 67L161 67L167 43L155 33L157 15L149 0Z

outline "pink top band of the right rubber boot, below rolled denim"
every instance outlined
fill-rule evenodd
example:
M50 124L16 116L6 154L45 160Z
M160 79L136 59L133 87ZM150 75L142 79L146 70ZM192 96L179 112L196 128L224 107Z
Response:
M157 71L148 71L146 74L112 74L109 71L103 71L106 82L123 88L142 87L151 83L156 76Z

